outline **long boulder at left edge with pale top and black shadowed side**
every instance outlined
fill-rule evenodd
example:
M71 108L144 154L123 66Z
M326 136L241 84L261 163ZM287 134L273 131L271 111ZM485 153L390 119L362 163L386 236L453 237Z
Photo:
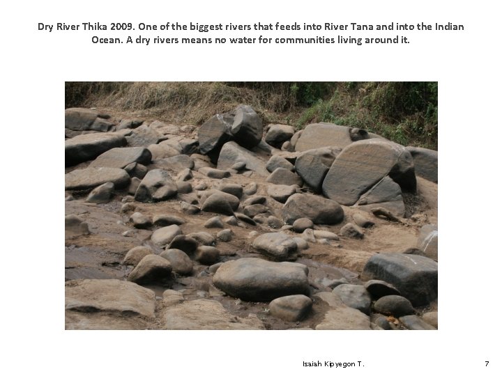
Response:
M65 165L74 166L80 162L94 159L109 149L126 145L126 138L121 134L81 134L65 141Z

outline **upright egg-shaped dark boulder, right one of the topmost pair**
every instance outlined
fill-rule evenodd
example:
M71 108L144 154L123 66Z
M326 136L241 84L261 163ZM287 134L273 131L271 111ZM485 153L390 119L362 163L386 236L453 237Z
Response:
M247 149L254 148L263 136L261 118L250 106L241 105L234 110L234 113L234 123L230 127L230 133L239 145Z

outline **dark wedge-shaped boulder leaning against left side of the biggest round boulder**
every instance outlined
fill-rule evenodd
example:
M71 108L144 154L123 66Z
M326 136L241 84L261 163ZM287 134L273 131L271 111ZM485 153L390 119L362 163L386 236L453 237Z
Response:
M320 192L326 173L341 151L340 148L334 147L307 150L296 159L296 173L301 176L306 185Z

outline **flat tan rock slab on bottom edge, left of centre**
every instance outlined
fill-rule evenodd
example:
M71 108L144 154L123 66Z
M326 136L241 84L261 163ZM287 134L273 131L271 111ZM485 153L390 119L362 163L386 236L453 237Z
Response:
M265 329L256 316L238 318L229 313L220 302L208 299L181 301L168 306L163 313L167 330L256 330Z

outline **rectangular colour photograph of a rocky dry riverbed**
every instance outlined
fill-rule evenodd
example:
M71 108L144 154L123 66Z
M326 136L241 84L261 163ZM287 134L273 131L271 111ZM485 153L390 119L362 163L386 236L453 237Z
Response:
M439 329L438 81L62 84L66 331Z

